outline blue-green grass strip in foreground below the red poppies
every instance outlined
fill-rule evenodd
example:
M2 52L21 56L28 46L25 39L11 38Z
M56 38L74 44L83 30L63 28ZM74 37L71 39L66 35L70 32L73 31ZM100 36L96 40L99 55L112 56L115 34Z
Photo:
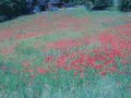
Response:
M130 76L107 74L104 78L100 75L90 74L86 77L79 78L72 76L72 72L60 70L61 73L47 75L36 75L33 81L28 81L28 73L10 74L0 71L0 83L4 87L0 89L1 98L130 98L129 84ZM58 79L52 79L58 76ZM22 78L24 77L24 78ZM28 81L28 82L27 82ZM120 82L117 84L116 82ZM19 85L19 86L17 86ZM28 91L31 89L31 91ZM13 96L14 95L14 96Z

